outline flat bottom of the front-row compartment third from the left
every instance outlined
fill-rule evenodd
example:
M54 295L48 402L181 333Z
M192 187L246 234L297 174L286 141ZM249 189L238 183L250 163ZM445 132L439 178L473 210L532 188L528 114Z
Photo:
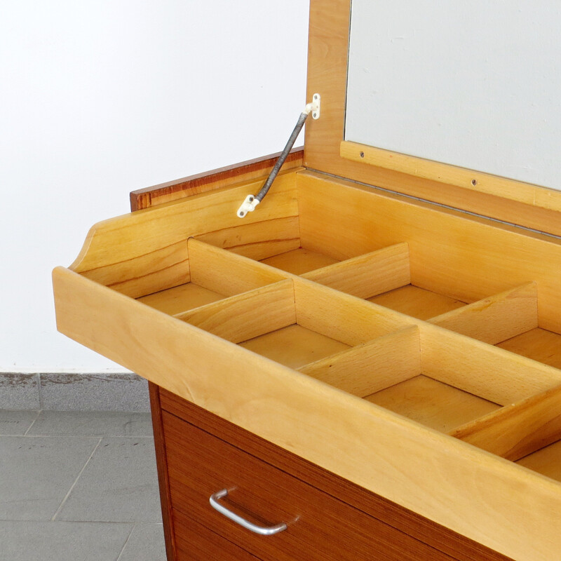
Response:
M422 375L365 399L443 433L500 407Z

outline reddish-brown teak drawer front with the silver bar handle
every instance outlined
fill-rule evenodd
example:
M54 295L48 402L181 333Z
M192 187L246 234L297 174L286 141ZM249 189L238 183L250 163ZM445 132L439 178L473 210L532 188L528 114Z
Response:
M452 559L168 412L163 433L174 511L264 561ZM288 529L259 536L231 522L209 504L220 489L230 489L223 504L238 515Z

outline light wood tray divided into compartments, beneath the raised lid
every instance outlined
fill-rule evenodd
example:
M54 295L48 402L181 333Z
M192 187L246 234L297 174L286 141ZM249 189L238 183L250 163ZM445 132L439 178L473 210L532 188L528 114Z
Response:
M279 180L242 222L253 183L98 224L53 273L59 329L359 487L549 561L559 241L307 170Z

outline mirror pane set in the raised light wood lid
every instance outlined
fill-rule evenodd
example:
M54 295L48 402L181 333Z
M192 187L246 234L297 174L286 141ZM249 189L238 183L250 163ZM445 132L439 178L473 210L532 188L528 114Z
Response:
M561 190L561 4L353 0L345 140Z

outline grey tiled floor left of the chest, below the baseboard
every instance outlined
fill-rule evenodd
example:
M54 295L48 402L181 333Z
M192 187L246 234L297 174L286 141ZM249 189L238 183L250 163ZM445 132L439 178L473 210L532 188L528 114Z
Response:
M165 561L149 413L0 410L1 561Z

